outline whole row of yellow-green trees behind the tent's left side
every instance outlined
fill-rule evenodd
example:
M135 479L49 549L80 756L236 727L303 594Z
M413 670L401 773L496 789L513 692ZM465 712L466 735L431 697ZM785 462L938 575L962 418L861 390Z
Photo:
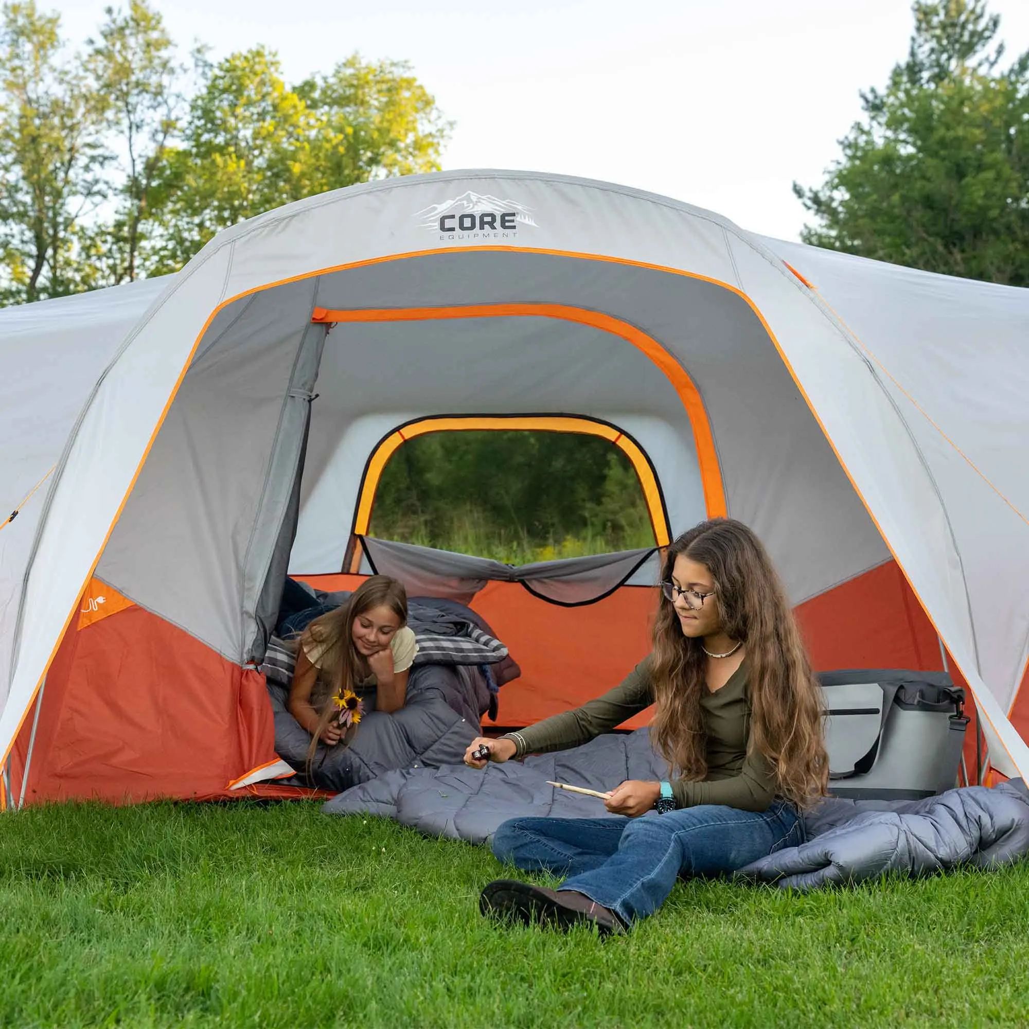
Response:
M315 193L434 171L450 132L403 62L295 87L263 46L187 75L148 0L68 54L60 17L0 28L0 305L177 271L219 229Z

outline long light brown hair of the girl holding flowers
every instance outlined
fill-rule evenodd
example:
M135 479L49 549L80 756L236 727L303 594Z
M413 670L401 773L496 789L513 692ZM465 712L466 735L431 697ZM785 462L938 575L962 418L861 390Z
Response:
M318 678L328 698L344 689L353 689L357 682L357 672L361 666L360 654L354 646L351 627L354 618L375 607L388 607L399 619L400 627L407 624L407 593L401 582L388 575L370 575L350 596L350 599L334 611L319 615L300 636L300 645L310 640L323 647L318 658ZM311 747L308 750L308 765L318 749L322 730L339 711L330 699L326 698L318 717Z

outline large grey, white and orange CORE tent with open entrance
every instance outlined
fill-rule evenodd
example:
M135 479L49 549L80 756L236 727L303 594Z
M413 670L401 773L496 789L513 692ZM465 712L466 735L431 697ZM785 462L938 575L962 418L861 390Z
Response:
M493 171L313 197L174 277L0 312L0 792L281 774L258 666L284 576L352 582L377 548L509 644L501 721L615 682L652 558L498 571L366 537L405 438L504 426L622 448L659 543L748 523L818 667L953 662L1025 774L1027 329L1029 290Z

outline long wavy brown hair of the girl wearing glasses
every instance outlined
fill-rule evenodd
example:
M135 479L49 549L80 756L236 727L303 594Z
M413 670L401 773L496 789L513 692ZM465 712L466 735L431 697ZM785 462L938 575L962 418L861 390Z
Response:
M768 553L742 522L719 518L668 547L662 581L671 579L679 556L711 573L722 629L747 648L750 747L768 759L781 795L810 806L824 795L828 781L821 690ZM707 774L702 642L682 634L672 602L663 597L653 627L657 709L650 732L662 755L691 780Z

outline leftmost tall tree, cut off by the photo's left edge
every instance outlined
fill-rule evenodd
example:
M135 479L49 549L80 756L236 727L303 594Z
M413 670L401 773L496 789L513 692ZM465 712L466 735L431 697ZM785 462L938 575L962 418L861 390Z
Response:
M0 25L0 303L79 288L74 234L106 194L103 103L62 63L59 17L33 0Z

